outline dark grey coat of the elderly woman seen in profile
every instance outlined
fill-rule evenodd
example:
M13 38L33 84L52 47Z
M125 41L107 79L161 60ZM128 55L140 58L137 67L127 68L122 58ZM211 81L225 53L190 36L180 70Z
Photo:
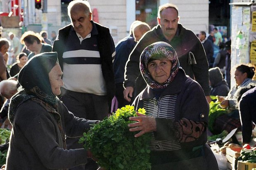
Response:
M84 149L66 150L65 135L82 136L89 121L74 117L61 101L56 111L32 98L17 108L7 155L7 170L57 170L87 163Z

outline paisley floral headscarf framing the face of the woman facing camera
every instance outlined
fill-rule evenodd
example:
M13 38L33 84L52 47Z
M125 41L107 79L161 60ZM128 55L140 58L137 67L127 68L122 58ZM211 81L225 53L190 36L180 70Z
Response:
M172 69L170 77L164 83L158 83L154 81L150 73L148 72L148 62L152 60L167 59L172 63ZM175 49L166 42L156 42L147 46L140 55L140 72L143 75L144 80L152 89L163 89L170 84L175 78L178 69L180 67L179 60Z

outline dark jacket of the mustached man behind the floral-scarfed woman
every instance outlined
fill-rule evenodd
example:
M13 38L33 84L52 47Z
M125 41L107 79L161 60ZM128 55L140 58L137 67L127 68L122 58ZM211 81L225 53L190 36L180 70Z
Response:
M137 94L135 94L135 96L146 86L140 74L140 55L146 46L158 41L169 43L175 49L180 66L185 70L186 75L195 79L202 86L205 95L210 94L209 65L202 43L192 31L183 28L181 24L178 24L177 31L175 37L173 37L170 42L164 37L160 25L155 26L151 31L147 32L134 47L126 65L124 85L125 87L135 86L135 89L137 88ZM137 81L137 85L135 81ZM144 84L142 84L143 82Z

